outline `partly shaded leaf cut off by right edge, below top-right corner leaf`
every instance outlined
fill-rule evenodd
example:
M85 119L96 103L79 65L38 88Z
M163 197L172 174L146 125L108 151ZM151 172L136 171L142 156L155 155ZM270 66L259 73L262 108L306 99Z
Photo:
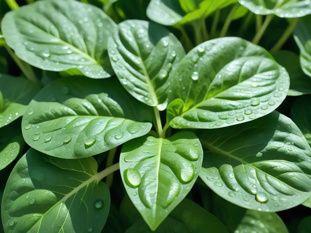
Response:
M311 16L299 19L294 39L300 49L300 66L306 75L311 77Z

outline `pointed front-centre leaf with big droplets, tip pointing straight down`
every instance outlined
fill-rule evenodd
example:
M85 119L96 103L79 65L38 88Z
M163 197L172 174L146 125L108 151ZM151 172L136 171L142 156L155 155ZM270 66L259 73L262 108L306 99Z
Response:
M168 139L144 136L124 144L122 180L151 230L188 194L201 164L202 147L191 132L179 132Z

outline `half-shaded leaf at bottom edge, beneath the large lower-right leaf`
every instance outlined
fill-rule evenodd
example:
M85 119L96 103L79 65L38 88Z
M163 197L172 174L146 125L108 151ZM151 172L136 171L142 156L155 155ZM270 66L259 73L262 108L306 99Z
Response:
M229 232L288 233L284 222L274 212L247 210L218 195L214 197L212 213L225 224Z

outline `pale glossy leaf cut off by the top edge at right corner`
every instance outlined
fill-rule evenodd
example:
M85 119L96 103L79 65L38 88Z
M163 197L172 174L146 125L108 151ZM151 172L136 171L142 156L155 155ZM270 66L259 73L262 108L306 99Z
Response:
M298 18L311 14L310 0L239 0L239 3L257 15Z

